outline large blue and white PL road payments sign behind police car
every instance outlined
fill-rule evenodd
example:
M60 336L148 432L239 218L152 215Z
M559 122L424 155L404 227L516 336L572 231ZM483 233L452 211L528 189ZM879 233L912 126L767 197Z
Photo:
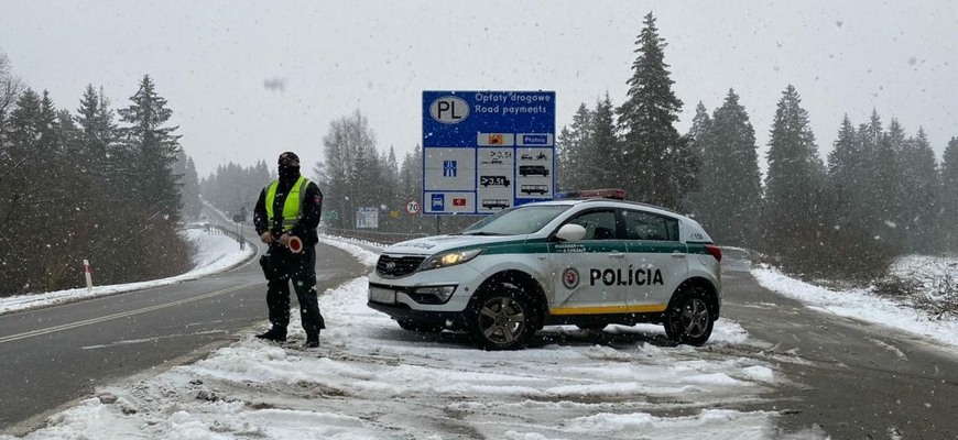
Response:
M488 215L554 194L554 91L423 91L423 213Z

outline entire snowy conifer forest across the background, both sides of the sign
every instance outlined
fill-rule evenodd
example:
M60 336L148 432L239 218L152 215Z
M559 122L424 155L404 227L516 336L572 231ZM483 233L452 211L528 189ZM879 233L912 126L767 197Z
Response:
M621 103L608 92L592 107L581 103L558 133L557 191L625 189L629 199L696 218L720 245L760 251L805 276L868 282L896 255L958 249L958 140L938 163L921 127L910 134L875 110L869 121L841 121L826 161L798 90L787 85L768 128L762 176L734 90L711 113L698 102L682 134L675 124L684 103L651 13L635 44ZM104 95L88 86L76 112L57 110L0 53L0 218L10 226L0 232L0 293L77 287L83 258L107 283L181 273L190 251L175 231L198 219L200 200L230 216L251 212L275 176L269 158L199 178L149 76L127 107L111 109ZM328 227L351 229L360 207L380 210L382 232L455 232L477 220L447 216L437 224L406 215L405 204L422 196L422 148L402 160L393 147L382 151L360 110L302 150L323 157L312 175ZM53 232L23 239L37 230Z

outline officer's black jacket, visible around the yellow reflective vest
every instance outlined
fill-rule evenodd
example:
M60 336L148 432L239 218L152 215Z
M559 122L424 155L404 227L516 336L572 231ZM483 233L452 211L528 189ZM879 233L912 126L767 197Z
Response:
M286 195L290 194L290 189L298 178L300 176L280 178L280 185L276 187L276 197L273 199L273 213L283 212ZM253 210L253 224L257 228L258 234L262 235L263 232L270 231L274 238L279 238L283 233L282 226L271 224L272 222L266 216L266 188L260 191L260 198L257 200L257 207ZM290 235L298 237L305 245L315 245L319 242L316 228L319 226L319 218L323 215L323 191L319 190L319 186L316 183L309 180L309 185L306 186L306 196L303 198L303 206L300 209L303 216L293 227Z

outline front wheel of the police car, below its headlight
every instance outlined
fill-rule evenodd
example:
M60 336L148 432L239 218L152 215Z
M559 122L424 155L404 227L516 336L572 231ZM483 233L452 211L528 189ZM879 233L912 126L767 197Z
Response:
M473 304L469 333L485 350L520 350L535 334L536 314L533 301L518 288L498 284Z

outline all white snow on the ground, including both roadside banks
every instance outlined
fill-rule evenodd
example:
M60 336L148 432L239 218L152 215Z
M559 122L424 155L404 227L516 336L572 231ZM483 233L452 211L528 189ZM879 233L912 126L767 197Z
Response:
M185 277L222 270L247 257L235 241L221 235L198 234L192 240L202 241L199 249L209 253L204 261L216 263ZM375 261L375 254L364 248L323 240L367 265ZM221 251L216 252L218 249ZM753 273L764 286L783 293L802 292L795 295L817 307L840 314L856 309L860 319L895 322L882 311L883 301L867 293L829 294L796 284L770 268ZM130 289L155 283L140 283ZM717 322L709 344L699 349L658 344L663 332L657 326L610 327L602 334L556 327L542 331L529 350L485 352L471 349L456 333L400 330L388 317L366 306L366 284L360 277L320 295L328 329L320 337L319 349L300 348L304 333L295 320L298 314L293 314L287 344L255 340L250 329L237 343L203 361L100 387L97 396L53 416L45 428L26 438L826 437L814 427L782 436L774 428L775 419L787 408L754 410L763 393L787 378L762 361L715 350L748 341L742 327L728 319ZM96 294L83 289L40 297L58 298L50 299L56 301L85 295ZM845 302L834 298L846 296L849 299ZM0 310L42 300L0 300ZM915 317L912 321L921 320ZM954 323L927 321L919 332L958 343ZM752 410L715 409L747 406Z

